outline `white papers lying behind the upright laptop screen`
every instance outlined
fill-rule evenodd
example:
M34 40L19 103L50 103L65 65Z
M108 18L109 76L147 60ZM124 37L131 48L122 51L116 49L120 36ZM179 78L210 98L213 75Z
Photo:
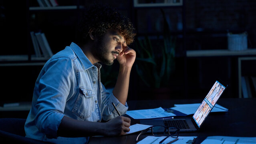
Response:
M194 114L200 104L174 104L174 107L171 109L182 112L183 114ZM220 106L219 104L215 104L214 108L211 112L227 112L228 109Z

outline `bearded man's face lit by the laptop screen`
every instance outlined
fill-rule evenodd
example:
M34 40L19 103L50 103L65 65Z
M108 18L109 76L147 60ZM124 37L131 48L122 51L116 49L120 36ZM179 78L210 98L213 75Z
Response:
M123 36L115 30L108 30L105 35L95 39L93 55L103 64L110 66L126 46Z

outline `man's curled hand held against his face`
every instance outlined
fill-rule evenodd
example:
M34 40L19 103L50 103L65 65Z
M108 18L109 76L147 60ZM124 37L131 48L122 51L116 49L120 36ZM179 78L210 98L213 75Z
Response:
M135 50L129 48L128 46L123 47L123 51L120 52L119 56L117 56L117 61L122 66L127 66L131 68L136 58Z

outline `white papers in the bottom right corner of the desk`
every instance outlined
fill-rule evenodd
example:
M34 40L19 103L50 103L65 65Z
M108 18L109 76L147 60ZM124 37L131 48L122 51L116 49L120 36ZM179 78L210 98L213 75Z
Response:
M201 144L256 144L256 137L208 136Z

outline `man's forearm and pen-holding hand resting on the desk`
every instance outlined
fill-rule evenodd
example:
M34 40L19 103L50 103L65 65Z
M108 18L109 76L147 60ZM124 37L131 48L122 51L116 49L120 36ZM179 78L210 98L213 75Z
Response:
M129 132L131 119L118 116L108 122L80 121L64 116L57 130L57 136L86 137L86 136L118 136Z

